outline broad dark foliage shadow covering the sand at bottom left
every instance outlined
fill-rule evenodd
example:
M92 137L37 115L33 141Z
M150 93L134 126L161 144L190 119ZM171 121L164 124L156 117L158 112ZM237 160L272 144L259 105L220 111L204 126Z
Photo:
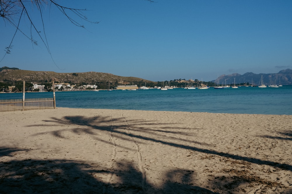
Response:
M0 150L4 149L5 153L0 152L4 155L15 151L8 147ZM98 163L73 160L0 162L0 193L215 193L206 188L171 181L157 188L145 181L130 161L120 161L117 165L120 167L104 169ZM173 173L179 174L168 174ZM119 181L108 184L107 179L112 176L118 177Z

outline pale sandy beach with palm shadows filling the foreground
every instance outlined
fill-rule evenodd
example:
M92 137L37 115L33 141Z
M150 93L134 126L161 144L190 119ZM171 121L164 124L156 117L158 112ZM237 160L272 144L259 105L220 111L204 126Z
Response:
M0 193L292 193L292 115L0 116Z

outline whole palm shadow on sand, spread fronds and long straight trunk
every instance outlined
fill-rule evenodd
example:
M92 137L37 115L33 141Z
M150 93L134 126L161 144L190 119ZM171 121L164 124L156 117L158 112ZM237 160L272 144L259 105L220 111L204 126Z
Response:
M51 118L51 119L52 120L45 120L45 122L54 122L60 125L75 124L79 126L84 126L86 127L86 129L81 128L81 129L78 129L77 131L83 131L88 134L94 134L95 130L107 131L107 132L110 132L115 138L124 138L125 140L128 140L128 141L131 140L131 139L128 139L129 137L135 138L137 140L147 140L147 141L161 143L161 144L165 144L165 145L169 145L173 147L189 149L189 150L202 152L206 154L214 154L214 155L223 156L223 157L236 159L236 160L243 160L243 161L247 161L247 162L255 163L255 164L270 165L272 167L292 171L292 166L286 163L281 164L281 163L277 163L273 161L251 158L247 156L239 156L239 155L234 155L234 154L229 154L229 153L224 153L224 152L218 152L211 149L203 149L203 148L191 146L190 144L192 143L195 143L198 145L208 145L208 144L188 140L189 138L187 136L193 136L193 135L191 131L181 133L180 130L185 130L184 128L179 128L179 127L176 128L176 127L171 126L173 129L176 129L176 130L173 130L173 131L167 130L167 132L164 133L163 129L168 129L165 126L172 125L171 123L152 123L150 124L152 128L149 129L148 127L144 126L145 121L140 121L140 120L125 121L124 118L113 119L111 117L101 117L101 116L94 116L94 117L89 117L89 118L86 118L84 116L65 116L63 119L57 119L57 118ZM149 121L146 123L146 125L149 125ZM68 130L72 132L74 132L75 130L76 132L76 129L73 129L73 130L62 129L62 130L53 131L52 134L57 137L62 137L60 133L62 131L68 131ZM139 133L134 134L134 132L139 132ZM174 136L172 137L166 136L166 134L169 134L169 133L173 134ZM177 136L175 136L177 134L179 134L180 136L185 136L185 139L180 138L180 137L178 138ZM124 135L124 137L121 137L121 135ZM180 141L180 143L176 143L178 141Z

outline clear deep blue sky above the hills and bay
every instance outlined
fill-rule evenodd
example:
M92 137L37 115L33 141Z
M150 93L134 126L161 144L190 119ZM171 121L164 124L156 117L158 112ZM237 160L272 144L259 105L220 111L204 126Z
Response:
M0 67L54 72L105 72L151 81L203 79L292 68L291 0L57 1L88 9L99 24L74 26L54 7L44 10L53 60L17 33ZM33 15L39 24L37 11ZM76 17L79 21L79 19ZM27 17L21 29L29 34ZM43 33L41 25L39 30ZM0 59L15 29L0 20Z

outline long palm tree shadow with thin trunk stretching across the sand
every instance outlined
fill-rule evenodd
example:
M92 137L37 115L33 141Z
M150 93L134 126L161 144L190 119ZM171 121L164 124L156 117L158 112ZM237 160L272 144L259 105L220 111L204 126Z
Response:
M148 126L156 125L156 128L152 129L150 127L140 127L141 124L145 124L145 123L143 123L145 121L141 121L141 120L127 121L127 122L131 122L130 126L128 124L117 124L117 123L123 123L123 118L111 119L109 117L99 117L99 116L90 117L90 118L86 118L84 116L65 116L63 120L59 120L56 118L52 118L52 119L53 120L46 120L46 122L57 122L59 124L76 124L76 125L90 127L89 130L88 130L88 128L86 128L86 129L78 128L78 129L76 129L78 132L81 130L81 131L84 131L88 134L94 134L95 130L110 131L112 133L112 135L115 136L116 138L119 138L120 135L125 135L125 136L129 136L132 138L148 140L148 141L152 141L152 142L159 142L159 143L162 143L165 145L170 145L173 147L180 147L183 149L189 149L189 150L193 150L196 152L202 152L202 153L206 153L206 154L214 154L214 155L223 156L223 157L227 157L227 158L231 158L231 159L235 159L235 160L243 160L243 161L247 161L247 162L255 163L255 164L270 165L272 167L277 167L277 168L281 168L283 170L292 171L292 166L289 164L285 164L285 163L281 164L278 162L256 159L256 158L251 158L251 157L246 157L246 156L238 156L238 155L233 155L233 154L224 153L224 152L217 152L215 150L210 150L210 149L201 149L198 147L188 145L188 143L204 144L201 142L192 142L192 141L183 140L180 138L173 138L175 140L183 140L183 142L185 142L185 144L178 144L178 143L173 143L172 141L161 140L164 138L164 136L161 134L158 134L158 133L155 135L157 138L152 138L149 136L135 135L131 132L125 132L123 130L123 129L128 129L132 132L133 131L140 131L143 134L150 134L150 133L153 134L154 133L153 131L163 131L164 133L173 133L173 134L182 134L183 133L183 132L159 130L159 129L164 129L164 125L166 125L166 124L169 125L169 123L160 123L159 127L158 127L159 129L157 129L157 124L147 122ZM36 126L36 125L34 125L34 126ZM76 132L76 130L71 129L70 131ZM64 130L54 131L53 135L55 135L57 137L61 137L62 131L64 131ZM185 134L185 135L187 135L187 134ZM162 138L160 138L160 137L162 137Z

